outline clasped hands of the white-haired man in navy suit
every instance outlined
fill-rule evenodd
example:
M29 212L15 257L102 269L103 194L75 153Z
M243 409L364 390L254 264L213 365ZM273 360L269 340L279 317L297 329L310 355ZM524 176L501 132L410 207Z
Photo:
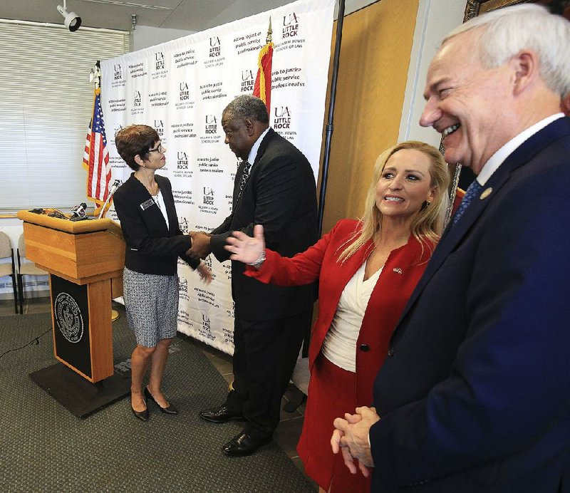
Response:
M356 474L358 469L364 477L371 474L371 467L374 467L368 435L371 426L380 420L375 408L356 408L356 414L351 415L346 412L344 419L337 417L333 425L335 430L331 437L331 447L333 453L341 452L344 464L352 474ZM358 463L358 467L356 465Z

